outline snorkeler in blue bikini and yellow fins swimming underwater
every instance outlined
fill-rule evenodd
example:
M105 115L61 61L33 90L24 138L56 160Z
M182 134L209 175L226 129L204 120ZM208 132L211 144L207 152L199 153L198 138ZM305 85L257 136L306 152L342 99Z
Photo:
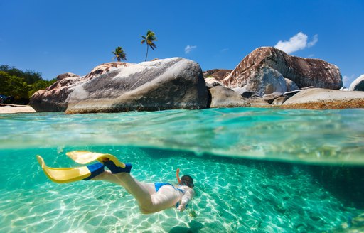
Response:
M193 178L183 175L175 187L170 183L143 183L130 175L131 163L121 163L110 154L92 153L89 151L72 151L67 153L77 163L90 163L98 161L89 166L80 168L50 168L47 167L41 156L37 156L38 162L45 175L56 183L69 183L77 180L103 180L117 185L122 185L135 200L143 214L151 214L176 207L183 212L188 202L195 195L193 190ZM105 166L109 170L105 170Z

